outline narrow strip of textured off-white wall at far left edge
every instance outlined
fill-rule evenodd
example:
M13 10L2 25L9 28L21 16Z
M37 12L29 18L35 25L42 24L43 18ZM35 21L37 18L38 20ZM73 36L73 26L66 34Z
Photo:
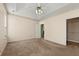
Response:
M6 26L5 20L7 19L7 13L4 8L4 5L0 3L0 55L2 54L4 48L7 45L6 38Z

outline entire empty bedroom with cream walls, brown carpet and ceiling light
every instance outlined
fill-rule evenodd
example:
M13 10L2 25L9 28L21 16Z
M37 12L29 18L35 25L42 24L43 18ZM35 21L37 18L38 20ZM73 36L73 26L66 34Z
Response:
M1 56L79 56L79 3L0 3Z

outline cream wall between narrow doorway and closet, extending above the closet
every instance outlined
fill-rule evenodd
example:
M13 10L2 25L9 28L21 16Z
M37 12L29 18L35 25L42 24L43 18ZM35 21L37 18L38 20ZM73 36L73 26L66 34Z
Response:
M79 17L79 9L40 21L45 26L45 39L66 45L66 19L74 17Z

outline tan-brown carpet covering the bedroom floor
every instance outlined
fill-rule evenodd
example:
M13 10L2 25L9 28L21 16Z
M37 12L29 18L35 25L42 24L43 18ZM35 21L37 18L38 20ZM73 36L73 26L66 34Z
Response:
M65 47L43 39L8 43L2 56L79 56L79 47Z

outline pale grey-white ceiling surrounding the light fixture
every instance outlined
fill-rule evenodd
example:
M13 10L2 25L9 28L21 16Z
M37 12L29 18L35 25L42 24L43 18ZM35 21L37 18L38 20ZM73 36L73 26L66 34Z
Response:
M79 4L69 3L40 3L43 9L43 14L36 15L35 10L38 6L37 3L6 3L8 13L28 17L33 20L41 20L51 15L58 15L79 8Z

